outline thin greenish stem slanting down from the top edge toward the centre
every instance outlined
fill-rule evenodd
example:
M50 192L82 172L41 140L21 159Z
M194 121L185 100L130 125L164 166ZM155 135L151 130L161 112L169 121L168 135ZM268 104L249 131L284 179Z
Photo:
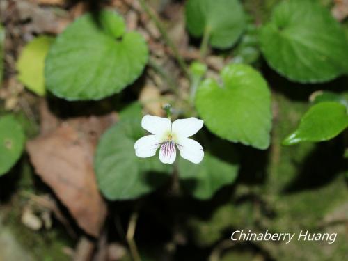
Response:
M148 16L150 17L150 19L153 20L153 22L155 22L157 28L159 29L159 31L161 32L161 35L163 36L164 40L166 41L166 44L171 47L172 52L177 60L177 63L179 63L180 68L182 69L182 71L184 72L185 76L187 78L189 78L189 69L187 68L186 63L184 62L184 59L182 58L182 56L180 56L179 50L177 49L177 47L174 45L174 43L172 42L171 38L169 38L168 33L166 32L166 29L164 28L164 26L161 24L161 22L159 21L159 18L157 17L157 15L148 7L148 5L145 3L144 0L138 0L139 3L141 4L141 7L143 8L143 10L145 11L145 13L148 14Z

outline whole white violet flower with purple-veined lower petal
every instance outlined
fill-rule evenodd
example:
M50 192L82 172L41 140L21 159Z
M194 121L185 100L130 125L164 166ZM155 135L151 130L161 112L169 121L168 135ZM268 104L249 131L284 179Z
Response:
M204 151L200 143L189 139L203 127L203 120L188 118L175 120L173 123L168 118L146 115L141 120L141 127L152 135L144 136L134 144L135 154L141 158L156 155L159 148L159 160L172 164L176 158L176 148L180 155L193 163L200 163Z

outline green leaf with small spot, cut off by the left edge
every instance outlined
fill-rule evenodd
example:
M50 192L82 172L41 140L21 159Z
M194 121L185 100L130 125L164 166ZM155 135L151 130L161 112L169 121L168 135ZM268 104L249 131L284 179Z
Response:
M0 176L10 171L22 155L25 136L13 116L0 118Z

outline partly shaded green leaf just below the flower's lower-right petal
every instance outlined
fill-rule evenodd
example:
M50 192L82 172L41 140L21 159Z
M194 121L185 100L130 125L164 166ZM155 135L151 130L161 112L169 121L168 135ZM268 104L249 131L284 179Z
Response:
M219 145L219 150L225 157L217 157L212 152L205 152L200 164L180 157L178 169L180 183L185 191L195 198L206 200L226 184L232 184L237 178L239 165L237 155L228 145Z

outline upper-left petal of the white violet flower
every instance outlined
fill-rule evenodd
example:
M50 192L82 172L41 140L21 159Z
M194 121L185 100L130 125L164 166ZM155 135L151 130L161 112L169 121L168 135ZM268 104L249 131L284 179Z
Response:
M163 135L165 132L171 132L171 120L157 116L145 115L141 120L141 127L148 132L156 135Z

